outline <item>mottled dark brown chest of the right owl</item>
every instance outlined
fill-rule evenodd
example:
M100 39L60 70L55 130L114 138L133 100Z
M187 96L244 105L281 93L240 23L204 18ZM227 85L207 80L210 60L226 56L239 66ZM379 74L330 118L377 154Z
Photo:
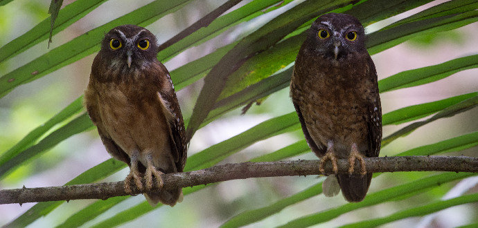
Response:
M292 98L316 142L365 144L365 117L373 88L366 70L312 66L294 75Z

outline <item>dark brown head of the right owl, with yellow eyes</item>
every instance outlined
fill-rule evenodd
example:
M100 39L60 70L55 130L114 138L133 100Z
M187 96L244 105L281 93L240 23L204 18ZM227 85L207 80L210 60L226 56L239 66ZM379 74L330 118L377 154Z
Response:
M316 55L339 61L366 52L362 23L346 14L328 13L317 18L306 43Z

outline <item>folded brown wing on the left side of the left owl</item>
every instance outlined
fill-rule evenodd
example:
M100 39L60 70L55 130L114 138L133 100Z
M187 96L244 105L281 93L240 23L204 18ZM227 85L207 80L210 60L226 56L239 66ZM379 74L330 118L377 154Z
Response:
M91 122L97 126L98 134L100 135L101 141L105 145L106 151L108 151L113 158L125 162L128 166L130 166L130 156L128 156L127 153L125 153L125 151L123 151L123 149L121 149L121 147L118 146L118 144L116 144L116 142L114 142L107 133L105 133L106 131L104 131L103 121L101 120L97 104L98 102L96 102L95 89L93 86L89 85L85 91L85 106L87 108Z

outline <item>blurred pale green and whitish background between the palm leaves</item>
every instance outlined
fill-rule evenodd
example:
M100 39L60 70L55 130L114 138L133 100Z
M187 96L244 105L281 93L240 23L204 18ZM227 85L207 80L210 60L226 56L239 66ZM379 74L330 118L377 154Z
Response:
M63 7L71 2L73 1L65 0ZM151 1L145 0L105 1L105 3L90 12L87 16L76 21L73 25L59 32L57 35L54 35L49 50L61 46L67 41L93 28L101 26L116 17L125 15L127 12L131 12L150 2ZM244 6L245 3L248 2L249 1L242 1L231 10ZM251 21L233 26L229 28L227 32L223 32L222 35L210 41L206 41L199 46L189 48L164 64L168 70L171 71L187 62L203 57L220 46L230 44L232 41L238 39L238 37L244 37L271 19L274 14L278 15L283 12L281 10L286 10L287 7L290 8L300 2L301 1L292 1L292 3L289 3L290 6L284 6L278 10L268 12L267 14L265 13ZM373 32L441 2L443 1L433 1L421 8L404 12L395 17L380 21L379 23L373 23L366 28L366 32ZM224 3L224 1L193 1L181 10L159 19L159 21L150 24L150 26L146 28L153 32L154 35L157 35L159 43L161 43L173 37L187 26L190 26L197 21L197 19L204 17L204 15L222 5L222 3ZM1 6L0 46L4 46L12 39L19 37L19 35L33 28L40 21L48 18L49 4L49 0L15 0L6 4L6 6ZM471 23L468 26L463 26L456 30L411 39L403 44L384 50L377 55L373 55L372 58L375 62L379 79L383 79L403 70L441 64L444 61L458 57L475 55L478 53L476 37L478 37L478 23ZM0 62L0 75L5 75L11 70L47 53L47 46L47 41L42 41L20 55L8 59L8 61ZM55 70L45 77L19 86L0 99L0 153L10 149L11 146L35 129L35 127L46 122L62 110L62 108L82 95L89 80L91 63L95 55L96 53L89 55L73 64ZM477 75L477 68L463 70L430 84L382 93L382 112L389 113L398 108L414 104L433 102L447 97L476 92L478 91ZM202 80L199 80L177 93L184 117L191 115L195 99L201 88ZM251 106L245 115L240 115L240 108L238 108L226 115L222 115L220 119L215 120L197 131L193 140L191 140L188 155L193 155L213 144L238 135L238 133L242 133L260 122L292 111L294 111L294 107L289 97L289 88L283 88L281 91L267 97L260 106ZM477 108L452 118L437 120L436 122L422 126L406 137L401 137L393 141L389 146L382 149L380 156L394 155L418 146L440 142L451 137L456 137L457 135L477 131L477 120ZM384 126L384 136L406 125L407 123ZM223 162L220 162L220 164L245 162L258 155L271 153L299 140L303 140L300 129L292 133L270 137L267 140L257 142L243 149L239 153L231 155ZM463 151L449 153L449 155L476 156L477 148L473 147ZM40 155L39 158L27 162L21 168L16 169L6 176L6 178L0 180L0 189L16 189L23 186L49 187L62 185L80 173L109 158L110 156L100 142L96 129L91 129L85 133L69 137L69 139L64 140L47 153ZM313 153L305 153L292 158L292 160L296 159L313 160L317 158ZM129 169L123 169L104 181L123 180L128 171ZM418 173L384 173L384 175L373 179L369 193L395 186L400 182L416 180L422 177L422 175L423 174ZM123 224L122 227L129 227L131 225L146 227L153 225L161 225L161 227L218 227L242 211L270 205L277 200L292 196L294 193L303 191L303 189L312 186L312 184L316 184L321 178L323 177L280 177L222 182L185 196L184 201L175 207L160 207L130 223ZM472 179L467 181L472 182L476 180ZM434 198L441 198L456 184L457 182L443 184L442 187L425 191L411 198L386 202L373 207L353 211L353 213L346 213L321 226L335 227L337 225L363 220L364 218L387 216L390 213L407 208L411 202L420 204ZM470 191L478 191L476 184ZM131 197L101 214L98 218L87 222L85 226L89 227L94 225L96 222L118 213L118 211L123 211L123 209L143 202L143 200L143 196ZM52 227L59 225L78 211L79 208L86 207L94 201L95 200L73 200L69 203L64 203L48 216L38 219L31 226ZM287 207L283 211L274 214L274 216L270 216L265 220L251 225L251 227L274 227L276 225L283 225L294 218L337 207L344 203L346 202L342 196L325 198L320 194ZM17 216L24 213L33 205L35 204L26 203L21 206L0 205L0 225L5 225L12 219L17 218ZM399 220L398 222L392 222L386 225L386 227L454 227L466 225L470 222L478 221L477 207L478 205L476 203L461 205L441 211L439 212L439 216L435 216L434 218L408 218Z

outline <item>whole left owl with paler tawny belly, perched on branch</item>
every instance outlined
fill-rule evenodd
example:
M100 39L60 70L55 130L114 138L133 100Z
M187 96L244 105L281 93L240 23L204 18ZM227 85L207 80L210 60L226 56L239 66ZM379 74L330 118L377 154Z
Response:
M91 66L85 106L106 150L130 166L125 190L135 184L151 205L174 206L182 189L150 191L153 178L161 188L162 173L183 171L187 149L175 89L157 53L156 37L145 28L110 30Z

